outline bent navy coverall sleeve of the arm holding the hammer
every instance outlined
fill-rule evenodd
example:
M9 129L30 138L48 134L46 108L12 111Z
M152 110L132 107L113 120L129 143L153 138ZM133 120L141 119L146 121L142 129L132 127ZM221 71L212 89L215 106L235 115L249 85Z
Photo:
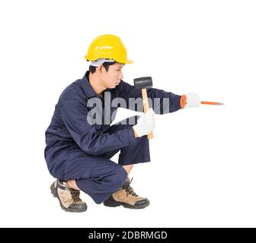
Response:
M97 131L94 125L88 123L87 107L76 99L67 99L62 103L61 115L76 144L92 156L118 150L136 142L132 128L124 128L114 134Z

